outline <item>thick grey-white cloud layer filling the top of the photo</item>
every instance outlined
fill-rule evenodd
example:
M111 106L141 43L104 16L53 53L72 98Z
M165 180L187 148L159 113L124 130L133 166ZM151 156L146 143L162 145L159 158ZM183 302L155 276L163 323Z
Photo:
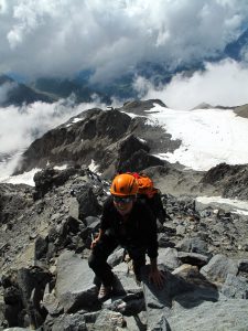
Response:
M246 0L0 0L0 72L100 82L142 61L173 68L215 56L247 21Z

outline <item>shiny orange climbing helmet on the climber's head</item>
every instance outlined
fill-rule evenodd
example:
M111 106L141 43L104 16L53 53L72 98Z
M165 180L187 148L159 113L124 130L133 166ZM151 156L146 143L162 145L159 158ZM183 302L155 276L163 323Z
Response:
M138 182L129 173L118 174L111 184L110 193L118 196L136 195L138 193Z

